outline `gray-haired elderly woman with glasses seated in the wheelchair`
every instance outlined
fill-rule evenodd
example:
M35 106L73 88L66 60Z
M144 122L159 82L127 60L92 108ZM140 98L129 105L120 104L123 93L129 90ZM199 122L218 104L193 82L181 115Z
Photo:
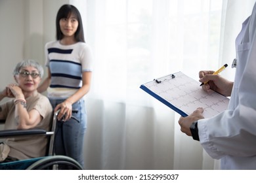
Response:
M5 120L5 129L45 129L49 130L53 108L49 99L37 92L43 77L43 68L33 60L25 60L13 71L16 84L9 84L1 93L13 98L0 105L0 119ZM18 137L7 139L0 144L0 161L45 156L47 137Z

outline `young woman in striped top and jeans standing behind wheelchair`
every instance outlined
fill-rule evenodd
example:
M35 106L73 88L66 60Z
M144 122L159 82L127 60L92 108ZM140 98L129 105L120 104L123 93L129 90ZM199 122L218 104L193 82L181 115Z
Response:
M47 90L54 111L60 110L55 153L70 156L83 166L87 124L83 96L91 86L92 54L84 40L81 15L73 5L58 10L56 39L45 45L48 77L38 91Z

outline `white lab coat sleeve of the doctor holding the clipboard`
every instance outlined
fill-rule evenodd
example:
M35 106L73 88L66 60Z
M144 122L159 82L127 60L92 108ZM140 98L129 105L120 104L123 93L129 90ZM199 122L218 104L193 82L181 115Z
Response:
M249 48L238 84L238 105L209 119L198 120L200 143L215 159L256 156L256 35L255 7L249 23Z

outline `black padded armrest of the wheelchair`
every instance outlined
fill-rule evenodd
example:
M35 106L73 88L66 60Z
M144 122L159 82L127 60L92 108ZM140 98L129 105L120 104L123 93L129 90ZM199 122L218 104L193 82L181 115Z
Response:
M47 131L45 129L6 129L0 131L0 139L28 135L47 135Z

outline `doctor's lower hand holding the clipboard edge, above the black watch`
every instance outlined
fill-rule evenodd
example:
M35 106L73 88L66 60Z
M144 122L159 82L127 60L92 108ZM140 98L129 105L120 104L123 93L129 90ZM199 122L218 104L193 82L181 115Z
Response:
M199 107L197 108L192 114L182 117L179 119L179 125L181 126L181 131L183 133L186 133L188 136L192 136L190 132L190 125L192 125L193 122L196 122L197 120L203 119L203 108Z

